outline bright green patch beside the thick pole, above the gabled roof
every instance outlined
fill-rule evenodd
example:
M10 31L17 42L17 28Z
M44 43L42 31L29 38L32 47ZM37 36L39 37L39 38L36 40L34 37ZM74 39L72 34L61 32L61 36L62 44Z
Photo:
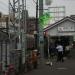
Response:
M44 28L48 24L50 19L52 19L52 16L50 16L48 12L44 13L42 16L39 17L39 24L42 28Z

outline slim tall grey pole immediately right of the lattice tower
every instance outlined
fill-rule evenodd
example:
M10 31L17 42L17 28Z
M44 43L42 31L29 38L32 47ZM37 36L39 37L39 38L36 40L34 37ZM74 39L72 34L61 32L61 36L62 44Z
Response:
M25 57L26 57L26 52L27 52L27 41L26 41L26 34L27 34L27 25L26 25L26 0L22 0L22 20L23 20L23 37L22 37L22 43L23 43L23 62L25 63Z

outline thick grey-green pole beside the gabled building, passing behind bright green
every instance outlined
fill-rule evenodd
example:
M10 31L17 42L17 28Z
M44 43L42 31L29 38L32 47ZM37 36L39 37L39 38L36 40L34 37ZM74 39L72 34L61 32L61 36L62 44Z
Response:
M39 16L43 15L43 0L39 0ZM39 25L39 48L41 53L41 60L43 63L44 59L44 35L43 35L43 28Z

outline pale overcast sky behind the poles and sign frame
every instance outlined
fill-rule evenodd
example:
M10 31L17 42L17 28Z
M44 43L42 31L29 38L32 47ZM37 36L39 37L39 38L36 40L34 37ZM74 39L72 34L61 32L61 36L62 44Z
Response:
M66 15L75 14L75 0L52 0L51 6L65 6ZM35 16L35 7L36 4L33 0L27 0L27 9L30 16ZM3 14L8 13L8 0L0 0L0 11Z

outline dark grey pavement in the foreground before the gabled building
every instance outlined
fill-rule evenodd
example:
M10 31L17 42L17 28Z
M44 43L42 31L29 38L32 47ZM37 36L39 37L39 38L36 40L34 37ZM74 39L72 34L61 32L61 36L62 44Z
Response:
M52 68L48 65L38 67L25 75L75 75L75 59L67 59L62 62L53 62Z

